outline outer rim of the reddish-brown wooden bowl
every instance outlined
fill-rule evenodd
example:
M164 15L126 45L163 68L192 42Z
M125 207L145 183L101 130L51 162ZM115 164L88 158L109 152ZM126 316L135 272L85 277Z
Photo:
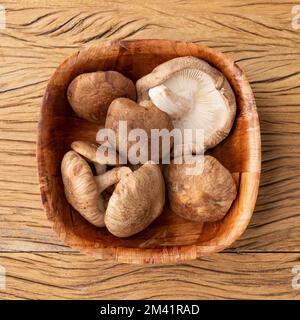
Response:
M44 154L41 148L42 145L42 138L41 138L41 130L43 128L43 124L45 119L43 118L43 113L45 112L46 103L45 103L45 96L47 90L51 83L55 81L55 78L59 71L72 59L76 58L78 54L86 54L90 50L96 49L105 49L111 47L112 49L123 48L127 50L128 48L138 47L142 43L147 43L148 45L154 46L158 43L163 44L164 46L183 46L189 47L193 46L196 47L197 50L204 50L207 52L209 56L217 56L223 63L226 64L226 68L231 71L231 73L239 77L240 86L244 89L244 92L247 93L247 99L249 99L249 106L251 107L251 113L257 118L255 132L253 134L256 135L256 140L258 141L258 145L255 148L256 154L252 161L255 161L253 171L245 172L246 174L253 174L251 178L251 194L246 195L247 197L247 210L241 214L241 219L243 223L240 223L238 227L232 229L225 238L213 239L214 241L207 241L203 242L201 245L191 244L191 245L177 245L177 246L170 246L170 247L161 247L161 248L129 248L129 247L99 247L99 248L85 248L82 247L80 244L74 243L71 241L69 237L57 226L55 218L51 215L51 209L49 206L49 185L48 185L48 176L47 170L45 168L45 161L44 161ZM180 54L178 56L181 56ZM209 61L208 61L209 62ZM216 67L215 65L213 65ZM217 68L217 67L216 67ZM228 79L229 80L229 79ZM234 88L233 88L234 90ZM235 90L234 90L235 91ZM236 92L235 92L236 94ZM136 40L117 40L117 41L107 41L101 42L97 45L83 48L78 50L77 52L69 55L54 71L50 80L48 81L42 106L40 109L39 121L38 121L38 134L37 134L37 167L38 167L38 176L39 176L39 185L40 185L40 193L41 199L43 203L44 210L46 212L48 220L51 222L53 229L55 230L56 234L58 235L59 239L63 241L64 244L70 246L71 248L78 249L81 252L88 253L91 255L97 256L100 259L106 260L115 260L118 262L124 263L137 263L137 264L161 264L161 263L176 263L182 261L189 261L195 260L199 257L206 256L208 254L219 252L224 250L225 248L229 247L235 240L237 240L242 233L247 228L249 221L252 217L258 189L259 189L259 180L260 180L260 172L261 172L261 138L260 138L260 128L259 128L259 120L258 120L258 113L255 104L254 94L250 87L250 84L241 70L241 68L229 57L224 55L223 53L207 47L206 45L202 44L195 44L189 43L184 41L174 41L174 40L166 40L166 39L136 39ZM254 152L254 151L253 151ZM251 161L251 159L250 159ZM245 177L245 179L249 177ZM250 179L250 178L249 178Z

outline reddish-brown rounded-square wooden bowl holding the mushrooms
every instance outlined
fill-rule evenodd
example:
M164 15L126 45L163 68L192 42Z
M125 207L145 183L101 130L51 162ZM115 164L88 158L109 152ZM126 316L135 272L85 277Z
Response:
M79 74L117 70L136 81L160 63L178 56L195 56L219 69L237 99L237 116L230 135L210 151L238 184L238 196L221 221L195 223L166 207L146 230L119 239L105 228L85 221L66 201L60 164L77 139L95 140L99 125L76 117L66 98L69 83ZM103 119L104 120L104 119ZM260 129L250 85L228 57L203 45L168 40L126 40L101 43L68 57L49 80L38 126L37 159L41 197L59 238L72 248L102 259L128 263L174 263L223 250L237 240L252 216L260 178Z

